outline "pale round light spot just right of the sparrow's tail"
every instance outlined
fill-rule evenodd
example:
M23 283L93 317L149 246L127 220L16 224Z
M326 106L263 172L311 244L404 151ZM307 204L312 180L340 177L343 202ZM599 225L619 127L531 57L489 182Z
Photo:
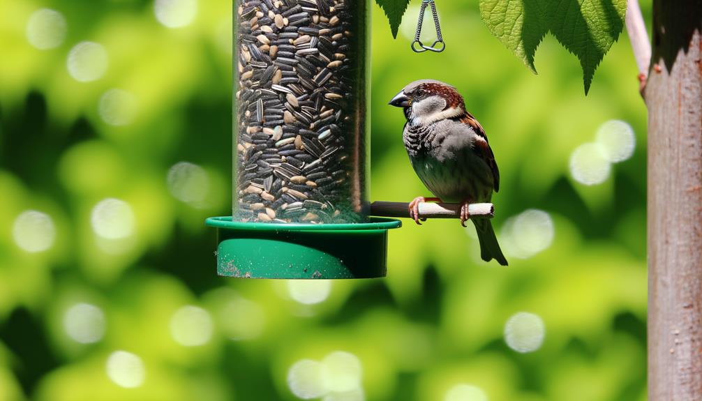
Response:
M550 247L555 228L547 212L529 209L508 219L502 235L505 251L514 257L527 259Z

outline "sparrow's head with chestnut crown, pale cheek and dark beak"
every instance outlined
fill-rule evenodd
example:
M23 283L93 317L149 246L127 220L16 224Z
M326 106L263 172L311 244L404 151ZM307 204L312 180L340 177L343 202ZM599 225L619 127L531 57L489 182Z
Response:
M409 83L390 100L390 105L403 107L407 121L413 125L427 125L465 113L463 97L456 88L434 79Z

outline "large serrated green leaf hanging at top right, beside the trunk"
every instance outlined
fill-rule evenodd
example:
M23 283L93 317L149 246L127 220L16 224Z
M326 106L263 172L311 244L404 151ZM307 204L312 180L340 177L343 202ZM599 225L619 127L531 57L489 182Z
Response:
M490 32L532 71L534 53L551 32L580 60L585 94L604 55L624 26L626 0L481 0Z

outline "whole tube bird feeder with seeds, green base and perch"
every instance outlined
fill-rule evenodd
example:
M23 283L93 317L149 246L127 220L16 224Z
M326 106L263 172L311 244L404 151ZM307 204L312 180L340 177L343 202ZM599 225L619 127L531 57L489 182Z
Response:
M401 222L371 214L407 210L369 203L369 18L367 0L234 1L232 216L207 219L221 276L385 276Z

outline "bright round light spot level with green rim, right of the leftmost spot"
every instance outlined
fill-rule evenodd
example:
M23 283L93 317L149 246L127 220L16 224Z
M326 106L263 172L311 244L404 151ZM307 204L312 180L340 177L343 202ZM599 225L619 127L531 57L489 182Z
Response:
M134 212L125 201L107 198L93 208L91 224L95 234L102 238L109 240L127 238L134 233Z

